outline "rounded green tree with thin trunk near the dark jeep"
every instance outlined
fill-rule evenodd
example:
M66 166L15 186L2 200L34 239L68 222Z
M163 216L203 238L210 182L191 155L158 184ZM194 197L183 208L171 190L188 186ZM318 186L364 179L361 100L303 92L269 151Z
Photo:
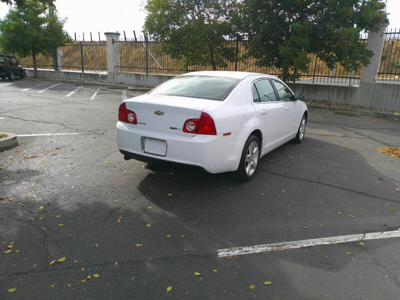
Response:
M54 7L26 0L10 8L0 21L0 46L4 51L22 57L32 55L34 76L37 77L36 54L54 54L55 48L69 41L64 24Z

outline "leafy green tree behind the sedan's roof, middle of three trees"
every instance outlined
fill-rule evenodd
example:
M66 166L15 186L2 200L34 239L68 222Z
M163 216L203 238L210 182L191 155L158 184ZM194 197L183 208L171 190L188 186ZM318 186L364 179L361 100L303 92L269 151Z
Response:
M183 66L211 65L213 70L234 60L224 36L232 33L229 11L235 0L147 0L144 29L161 41L161 51Z

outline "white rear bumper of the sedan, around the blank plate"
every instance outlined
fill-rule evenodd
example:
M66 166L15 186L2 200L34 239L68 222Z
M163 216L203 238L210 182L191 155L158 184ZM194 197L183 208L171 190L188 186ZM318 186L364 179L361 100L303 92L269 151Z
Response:
M165 140L166 155L144 153L140 141L142 136ZM227 136L170 134L118 121L116 141L121 153L140 161L171 161L199 166L209 173L221 173L237 169L245 136L241 131L233 131Z

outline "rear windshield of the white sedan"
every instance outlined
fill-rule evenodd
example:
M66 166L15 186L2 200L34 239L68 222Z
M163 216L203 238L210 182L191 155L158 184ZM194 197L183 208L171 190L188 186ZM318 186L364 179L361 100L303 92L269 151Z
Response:
M217 76L179 76L161 84L152 94L223 101L239 79Z

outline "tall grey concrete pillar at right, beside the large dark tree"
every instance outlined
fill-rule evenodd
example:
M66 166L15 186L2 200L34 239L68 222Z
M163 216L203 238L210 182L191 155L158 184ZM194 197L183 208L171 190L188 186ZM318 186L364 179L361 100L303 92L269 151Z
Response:
M389 22L383 23L379 26L379 30L376 32L368 32L368 39L366 41L366 47L368 50L373 51L372 57L369 59L370 63L368 66L362 67L360 82L363 83L374 83L378 78L378 71L380 67L380 60L383 52L383 42L385 37L386 28Z

